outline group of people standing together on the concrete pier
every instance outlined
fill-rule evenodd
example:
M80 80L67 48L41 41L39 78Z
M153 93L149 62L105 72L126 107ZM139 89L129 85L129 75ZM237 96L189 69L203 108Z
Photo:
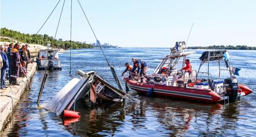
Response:
M8 88L5 79L9 80L10 85L19 85L17 77L27 76L30 51L27 44L20 46L19 43L1 45L1 89Z

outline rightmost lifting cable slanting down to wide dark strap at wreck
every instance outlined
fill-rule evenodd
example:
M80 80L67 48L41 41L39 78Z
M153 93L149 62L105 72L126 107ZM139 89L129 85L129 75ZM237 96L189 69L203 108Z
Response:
M112 74L113 74L113 76L114 76L114 78L115 78L115 81L116 81L117 86L119 87L120 90L123 91L122 84L121 84L121 82L120 82L120 80L119 80L119 78L118 78L118 76L117 76L117 74L116 74L116 72L115 72L114 67L111 66L111 65L109 64L108 59L106 59L105 53L104 53L102 47L100 46L100 42L99 42L99 40L97 39L97 37L96 37L96 35L95 35L94 31L93 31L93 28L92 28L92 25L91 25L90 22L89 22L89 19L87 18L86 13L84 13L83 8L82 8L82 6L81 6L79 0L77 0L77 1L78 1L79 5L80 5L80 7L81 7L81 10L82 10L82 12L83 12L83 15L86 17L86 20L87 20L88 24L90 25L90 28L91 28L91 30L92 30L92 32L93 32L93 35L94 35L94 37L95 37L95 39L96 39L96 41L97 41L97 44L99 45L99 47L100 47L100 49L101 49L101 51L102 51L102 53L103 53L103 56L104 56L104 58L105 58L105 60L106 60L106 63L108 63L108 65L109 65L109 67L110 67L110 70L111 70L111 72L112 72Z

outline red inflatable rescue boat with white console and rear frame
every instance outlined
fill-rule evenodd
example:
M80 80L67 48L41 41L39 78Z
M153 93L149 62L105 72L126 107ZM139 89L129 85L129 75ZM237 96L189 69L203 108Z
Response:
M148 96L160 95L203 102L234 102L241 96L252 93L247 86L238 83L236 72L229 65L229 55L226 50L203 52L199 58L201 62L199 70L185 72L182 68L186 57L195 51L186 51L184 41L176 42L175 47L170 49L170 54L161 59L154 73L145 75L143 81L140 81L139 76L133 76L131 72L130 76L124 77L126 90L130 88ZM212 62L217 62L219 65L218 77L212 76L209 72L214 64ZM221 62L224 62L224 68L221 68ZM204 64L208 65L207 72L200 70ZM167 68L165 74L160 73L162 68ZM229 77L221 79L221 70L228 71Z

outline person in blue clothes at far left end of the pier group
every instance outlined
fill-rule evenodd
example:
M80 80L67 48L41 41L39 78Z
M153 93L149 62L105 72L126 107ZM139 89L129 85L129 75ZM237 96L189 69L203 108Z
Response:
M1 57L3 59L3 67L1 68L1 89L8 88L5 85L5 77L6 77L6 72L9 69L9 62L8 62L8 58L7 58L7 54L5 53L5 50L6 50L5 46L2 45L1 46Z

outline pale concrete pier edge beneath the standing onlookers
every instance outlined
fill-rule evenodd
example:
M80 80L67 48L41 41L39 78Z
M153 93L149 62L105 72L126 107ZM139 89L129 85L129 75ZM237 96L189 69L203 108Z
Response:
M9 85L9 81L6 80L7 89L1 90L0 93L0 131L4 128L5 124L8 122L9 116L12 114L13 109L20 96L23 95L25 89L28 89L28 84L30 79L33 77L36 71L36 63L28 64L27 77L18 77L19 86Z

